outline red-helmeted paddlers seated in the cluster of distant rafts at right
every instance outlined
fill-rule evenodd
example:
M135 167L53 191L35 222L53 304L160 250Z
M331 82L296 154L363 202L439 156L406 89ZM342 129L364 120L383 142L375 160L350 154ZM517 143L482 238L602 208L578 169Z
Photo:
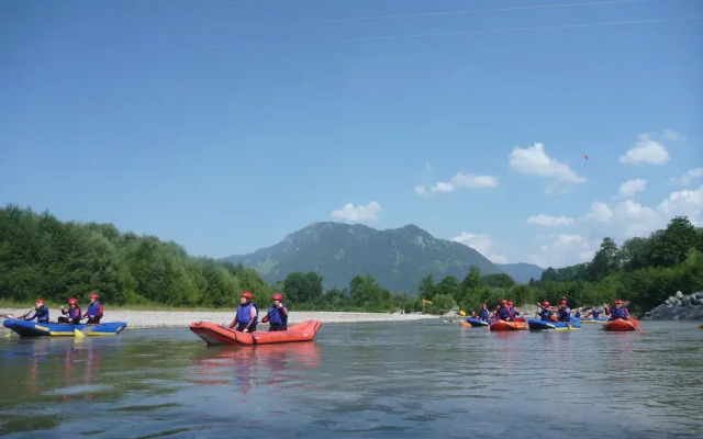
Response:
M603 304L604 314L610 316L610 320L614 320L616 318L629 318L629 312L625 307L625 302L622 299L616 299L613 301L613 304L615 305L613 307L609 306L606 303ZM544 322L570 322L571 318L600 318L601 316L601 312L595 306L593 306L584 316L581 316L579 311L571 316L571 308L569 307L567 297L561 297L559 303L556 305L551 305L549 301L543 301L542 303L538 303L537 306L539 308L536 314ZM492 314L489 314L488 306L484 303L481 306L480 314L472 311L469 318L493 323L498 319L514 322L518 316L520 312L515 309L513 302L503 299L501 300L501 304L495 307L495 311Z

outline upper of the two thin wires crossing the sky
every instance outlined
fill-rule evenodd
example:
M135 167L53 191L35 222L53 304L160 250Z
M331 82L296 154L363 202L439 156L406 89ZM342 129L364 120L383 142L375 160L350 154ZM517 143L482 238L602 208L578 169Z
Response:
M393 14L393 15L367 15L367 16L350 16L350 18L338 18L338 19L320 19L320 20L271 22L271 23L248 23L248 24L243 23L243 24L232 24L226 26L203 27L202 30L214 31L214 30L232 29L232 27L274 27L274 26L289 26L289 25L303 25L303 24L343 23L343 22L356 22L356 21L380 21L380 20L410 19L410 18L422 18L422 16L468 15L468 14L480 14L480 13L490 13L490 12L514 12L514 11L550 10L550 9L565 9L565 8L579 8L579 7L628 4L628 3L650 3L654 1L661 1L661 0L612 0L612 1L592 1L592 2L585 2L585 3L537 4L537 5L529 5L529 7L512 7L512 8L460 9L460 10L454 10L454 11L419 12L419 13L405 13L405 14Z

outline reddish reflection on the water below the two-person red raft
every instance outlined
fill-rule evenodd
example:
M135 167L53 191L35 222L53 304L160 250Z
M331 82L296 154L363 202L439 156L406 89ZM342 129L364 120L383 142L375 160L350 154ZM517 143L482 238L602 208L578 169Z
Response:
M234 383L246 395L258 384L288 383L295 371L319 369L321 349L314 341L256 347L203 348L191 360L194 378L203 385Z

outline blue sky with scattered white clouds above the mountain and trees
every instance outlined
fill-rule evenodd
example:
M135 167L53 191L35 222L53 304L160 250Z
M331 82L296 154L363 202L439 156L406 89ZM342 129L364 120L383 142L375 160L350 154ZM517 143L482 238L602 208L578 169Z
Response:
M0 1L0 203L211 257L341 221L568 266L703 224L702 19L701 0Z

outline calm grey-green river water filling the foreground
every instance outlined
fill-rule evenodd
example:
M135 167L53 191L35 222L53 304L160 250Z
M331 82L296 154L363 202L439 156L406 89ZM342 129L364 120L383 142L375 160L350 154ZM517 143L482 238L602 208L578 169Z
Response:
M328 324L207 347L189 329L2 338L0 436L703 437L703 330Z

